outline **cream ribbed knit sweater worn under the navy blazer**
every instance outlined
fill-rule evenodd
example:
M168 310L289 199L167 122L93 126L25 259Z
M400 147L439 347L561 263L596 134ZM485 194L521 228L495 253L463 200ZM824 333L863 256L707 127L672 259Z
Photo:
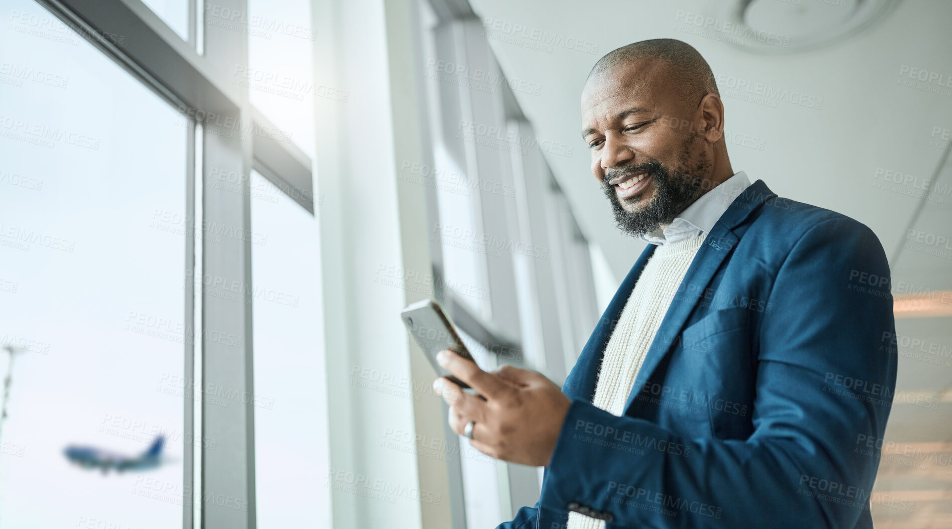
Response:
M664 314L704 234L655 248L615 325L595 385L594 404L619 417ZM566 529L605 529L605 521L569 512Z

